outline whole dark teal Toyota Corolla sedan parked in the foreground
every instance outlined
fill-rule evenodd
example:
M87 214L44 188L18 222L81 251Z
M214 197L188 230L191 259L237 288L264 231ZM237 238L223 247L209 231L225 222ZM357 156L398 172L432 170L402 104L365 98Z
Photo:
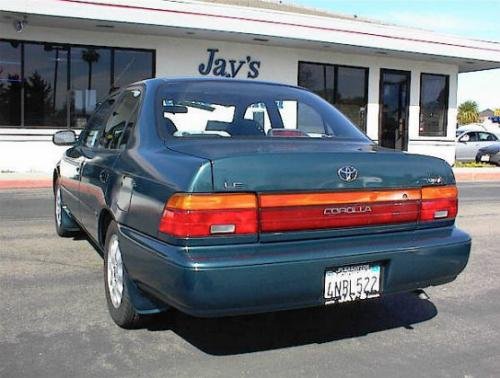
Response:
M305 89L152 79L104 100L54 169L56 231L104 256L122 327L368 300L454 280L443 160L379 148Z

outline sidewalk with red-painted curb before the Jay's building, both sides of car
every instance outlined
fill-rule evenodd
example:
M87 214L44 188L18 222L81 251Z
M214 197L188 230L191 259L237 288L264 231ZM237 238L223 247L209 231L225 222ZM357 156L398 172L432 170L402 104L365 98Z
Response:
M498 181L500 167L453 168L457 182ZM51 188L52 177L46 173L0 173L0 189Z

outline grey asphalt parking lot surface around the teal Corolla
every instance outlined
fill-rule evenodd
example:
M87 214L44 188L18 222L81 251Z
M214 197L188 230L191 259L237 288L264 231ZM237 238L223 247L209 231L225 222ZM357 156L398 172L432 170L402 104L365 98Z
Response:
M48 189L0 191L0 376L499 376L500 183L460 185L473 238L453 283L371 302L127 331L102 258L58 238Z

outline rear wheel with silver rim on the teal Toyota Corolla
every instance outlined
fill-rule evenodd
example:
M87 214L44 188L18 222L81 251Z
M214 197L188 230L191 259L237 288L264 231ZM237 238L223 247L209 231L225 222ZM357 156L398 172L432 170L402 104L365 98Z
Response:
M106 233L104 243L104 287L106 302L113 321L122 328L137 328L140 315L131 304L125 282L118 226L112 221Z

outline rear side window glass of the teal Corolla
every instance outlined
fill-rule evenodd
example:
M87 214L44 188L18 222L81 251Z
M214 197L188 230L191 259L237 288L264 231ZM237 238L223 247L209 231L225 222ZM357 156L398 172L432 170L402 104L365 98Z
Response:
M125 146L130 130L137 118L137 109L141 98L138 89L128 90L118 100L111 117L106 122L106 127L100 138L103 148L118 149Z

